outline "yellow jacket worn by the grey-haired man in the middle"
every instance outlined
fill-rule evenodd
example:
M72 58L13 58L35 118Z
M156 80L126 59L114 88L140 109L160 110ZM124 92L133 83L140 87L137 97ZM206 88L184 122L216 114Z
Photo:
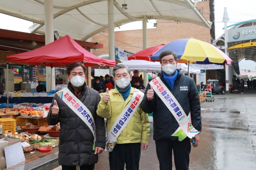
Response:
M97 114L102 118L107 119L106 126L108 131L112 128L115 120L131 100L133 93L134 88L131 88L130 95L124 101L121 93L119 93L116 88L112 89L109 91L110 100L108 103L104 103L102 101L102 97L105 93L101 94L101 101L98 105ZM148 114L142 111L140 105L127 126L118 136L117 143L148 143L149 135L150 122L148 119Z

